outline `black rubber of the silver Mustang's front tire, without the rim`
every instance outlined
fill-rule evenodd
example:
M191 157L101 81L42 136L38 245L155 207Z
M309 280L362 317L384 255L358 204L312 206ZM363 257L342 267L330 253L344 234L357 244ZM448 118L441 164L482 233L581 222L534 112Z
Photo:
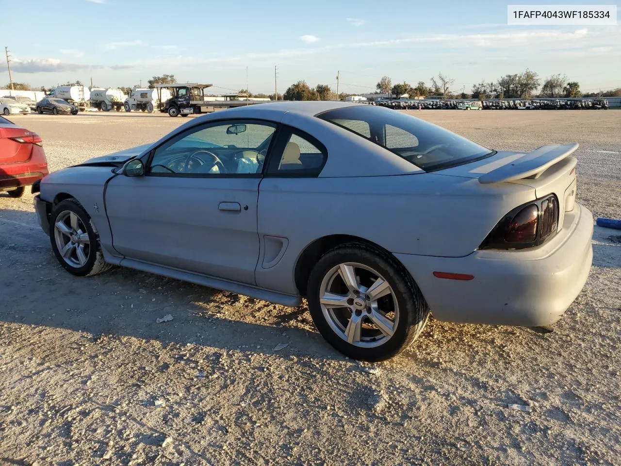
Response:
M89 251L86 263L84 263L82 267L76 267L68 264L58 250L55 239L55 224L57 222L58 216L66 211L76 214L79 220L82 222L83 226L86 227L86 232L88 233ZM53 207L52 215L50 216L50 242L52 243L52 250L58 262L63 268L65 268L67 272L71 273L72 275L91 276L96 275L97 273L106 272L113 267L109 263L106 263L106 261L104 260L104 256L101 253L99 235L97 234L93 226L93 222L91 222L91 217L88 215L88 213L86 213L84 208L78 203L76 199L66 199L65 201L61 201Z

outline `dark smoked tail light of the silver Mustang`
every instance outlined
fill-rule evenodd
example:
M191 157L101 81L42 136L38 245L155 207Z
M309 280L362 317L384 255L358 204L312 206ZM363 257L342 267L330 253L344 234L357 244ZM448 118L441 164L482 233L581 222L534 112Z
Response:
M479 249L524 249L543 244L556 234L558 216L554 194L519 206L502 217Z

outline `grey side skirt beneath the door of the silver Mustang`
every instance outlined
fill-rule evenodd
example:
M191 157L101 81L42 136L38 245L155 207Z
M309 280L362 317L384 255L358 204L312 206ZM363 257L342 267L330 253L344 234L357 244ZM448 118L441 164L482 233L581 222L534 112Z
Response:
M118 263L123 267L135 268L136 270L142 270L142 272L156 273L157 275L168 276L169 278L176 278L177 280L196 283L196 285L209 286L211 288L217 288L218 290L237 293L238 295L263 299L265 301L270 301L271 303L282 304L283 306L289 306L291 308L295 308L302 303L302 298L300 296L285 295L284 293L265 290L263 288L246 285L245 283L239 283L237 281L222 280L221 278L186 272L176 268L164 267L162 265L155 265L149 262L142 262L141 260L124 258Z

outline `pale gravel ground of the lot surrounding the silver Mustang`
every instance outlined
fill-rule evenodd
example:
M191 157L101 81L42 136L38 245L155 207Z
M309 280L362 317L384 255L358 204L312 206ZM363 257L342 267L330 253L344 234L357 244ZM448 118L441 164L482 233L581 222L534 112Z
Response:
M579 142L578 201L621 218L621 112L412 113L498 149ZM51 170L187 121L14 120L42 136ZM0 194L0 464L619 465L615 233L596 227L555 332L432 319L369 365L333 351L304 308L133 270L74 278L32 196Z

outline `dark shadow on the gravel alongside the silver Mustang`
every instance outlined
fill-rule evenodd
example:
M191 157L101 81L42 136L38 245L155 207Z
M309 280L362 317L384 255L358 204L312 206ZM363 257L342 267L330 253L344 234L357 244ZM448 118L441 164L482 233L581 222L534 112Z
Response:
M17 199L15 199L17 201ZM66 272L35 212L0 209L0 320L227 350L343 359L315 331L305 306L286 308L184 281L115 268ZM172 321L157 323L167 314ZM278 352L279 344L288 348Z

